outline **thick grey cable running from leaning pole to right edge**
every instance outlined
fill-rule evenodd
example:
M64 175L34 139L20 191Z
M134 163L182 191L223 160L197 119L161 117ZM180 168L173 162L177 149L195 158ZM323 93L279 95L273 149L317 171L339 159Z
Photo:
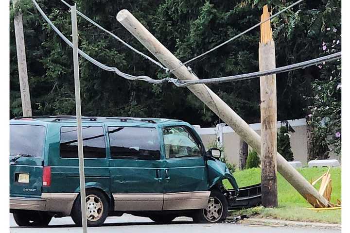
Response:
M233 75L233 76L227 76L227 77L220 77L220 78L211 78L211 79L200 79L200 80L172 80L170 82L175 83L176 86L188 86L193 84L204 84L204 83L227 83L227 82L233 82L233 81L240 81L240 80L247 80L247 79L253 79L258 78L261 76L271 75L271 74L278 74L283 72L288 72L295 69L300 68L306 68L313 65L317 65L324 62L330 62L333 60L341 59L341 51L336 52L330 55L326 55L323 57L315 58L309 61L300 62L284 67L278 67L275 69L269 69L264 71L258 71L258 72L252 72L247 74L240 74L240 75Z

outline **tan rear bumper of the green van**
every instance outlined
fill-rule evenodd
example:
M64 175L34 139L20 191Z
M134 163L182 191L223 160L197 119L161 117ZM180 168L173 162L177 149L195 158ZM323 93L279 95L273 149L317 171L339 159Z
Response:
M78 193L43 193L41 198L10 197L10 212L34 210L69 216Z

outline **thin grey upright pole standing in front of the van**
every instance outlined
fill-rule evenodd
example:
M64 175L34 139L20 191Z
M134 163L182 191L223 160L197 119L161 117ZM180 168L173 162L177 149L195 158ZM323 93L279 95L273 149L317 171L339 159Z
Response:
M83 233L88 232L86 215L86 195L85 195L85 172L83 153L83 133L82 116L80 103L80 78L79 78L79 57L78 57L78 25L76 17L76 5L70 6L72 37L73 37L73 65L74 65L74 87L75 87L75 111L77 117L77 137L78 137L78 159L79 159L79 182L80 182L80 204L82 214Z

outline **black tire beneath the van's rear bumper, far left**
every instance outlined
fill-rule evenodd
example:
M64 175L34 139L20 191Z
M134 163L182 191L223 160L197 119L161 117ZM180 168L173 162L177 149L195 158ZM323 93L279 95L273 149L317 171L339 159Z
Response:
M16 211L13 216L20 227L46 227L52 219L46 213L33 211Z

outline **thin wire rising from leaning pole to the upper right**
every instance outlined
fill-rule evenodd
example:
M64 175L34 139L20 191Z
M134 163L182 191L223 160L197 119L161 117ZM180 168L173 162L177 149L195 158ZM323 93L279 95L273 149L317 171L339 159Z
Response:
M190 62L192 62L192 61L194 61L194 60L196 60L196 59L198 59L198 58L200 58L200 57L203 57L204 55L206 55L206 54L208 54L208 53L210 53L210 52L212 52L212 51L214 51L214 50L219 49L220 47L226 45L227 43L231 42L232 40L235 40L235 39L237 39L238 37L244 35L245 33L250 32L250 31L253 30L254 28L259 27L259 26L260 26L261 24L263 24L264 22L267 22L268 20L270 20L270 19L272 19L272 18L274 18L274 17L279 16L281 13L285 12L286 10L292 8L293 6L297 5L298 3L302 2L302 1L303 1L303 0L298 0L298 1L294 2L293 4L287 6L287 7L284 8L283 10L277 12L276 14L274 14L274 15L272 15L271 17L265 19L264 21L261 21L261 22L255 24L254 26L248 28L248 29L245 30L244 32L239 33L239 34L233 36L232 38L230 38L230 39L228 39L227 41L221 43L220 45L215 46L214 48L212 48L212 49L210 49L210 50L208 50L208 51L206 51L206 52L203 52L202 54L200 54L200 55L198 55L198 56L196 56L196 57L193 57L192 59L190 59L190 60L188 60L187 62L181 64L180 66L178 66L178 67L176 67L176 68L170 70L170 73L174 72L176 69L178 69L178 68L180 68L180 67L182 67L182 66L185 66L185 65L189 64Z

